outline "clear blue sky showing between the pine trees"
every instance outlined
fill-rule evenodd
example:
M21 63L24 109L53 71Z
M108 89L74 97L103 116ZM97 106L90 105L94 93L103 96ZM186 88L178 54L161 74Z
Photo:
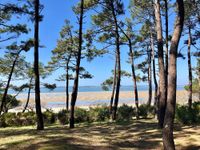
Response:
M76 22L76 16L72 11L72 6L74 6L79 0L41 0L41 3L44 5L44 10L42 14L44 15L43 21L40 23L40 41L41 45L44 45L45 48L40 49L40 61L44 64L47 64L51 58L51 50L56 47L57 39L59 38L59 32L64 25L64 20L68 19L71 21L74 27L78 27ZM125 6L128 6L129 0L124 0ZM127 7L126 12L128 12ZM87 14L86 14L87 16ZM173 18L174 16L170 17L170 27L173 27ZM86 17L84 20L84 29L87 29L90 24L89 17ZM33 28L33 24L31 22L27 22L30 28ZM23 36L23 38L33 36L31 32L28 36ZM186 37L183 37L185 39ZM179 47L182 47L182 42ZM185 49L186 50L186 49ZM122 69L130 71L130 65L126 63L128 56L127 56L128 48L123 46L121 47L121 61L122 61ZM186 51L184 51L186 54ZM27 60L33 61L33 50L26 54ZM140 63L141 60L137 60L137 63ZM193 59L192 64L196 65L196 61ZM114 67L114 58L111 55L105 55L101 58L96 58L92 62L86 62L83 60L81 65L84 66L91 74L94 75L93 79L84 79L80 80L81 86L88 86L88 85L100 85L105 79L110 77L111 70ZM52 74L52 76L45 79L45 82L55 83L55 79L62 74L62 70L56 71ZM178 85L187 84L187 59L182 60L178 59ZM64 82L56 82L58 86L64 86ZM147 83L140 83L140 84L147 84ZM71 83L72 85L72 83ZM129 79L122 79L122 85L132 85L132 80Z

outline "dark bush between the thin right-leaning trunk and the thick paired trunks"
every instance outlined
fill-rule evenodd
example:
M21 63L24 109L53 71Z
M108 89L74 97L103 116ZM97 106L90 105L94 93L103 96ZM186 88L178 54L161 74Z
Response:
M149 106L147 104L142 104L138 108L139 116L142 118L147 118L148 116L154 116L154 106Z

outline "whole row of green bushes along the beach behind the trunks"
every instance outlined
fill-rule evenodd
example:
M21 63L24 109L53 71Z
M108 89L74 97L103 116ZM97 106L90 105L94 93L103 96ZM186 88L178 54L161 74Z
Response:
M44 123L47 125L54 123L66 125L69 123L69 113L67 110L61 110L58 113L54 113L52 110L46 110L43 112ZM75 123L103 122L108 121L110 118L108 106L90 107L89 110L76 108L74 115ZM140 118L148 118L153 115L155 115L153 106L149 107L146 104L139 106ZM130 121L133 117L135 117L135 109L132 106L123 104L118 108L117 121ZM200 124L200 102L194 102L191 109L185 105L177 105L176 120L186 125ZM25 113L4 113L0 116L0 127L29 126L35 124L36 114L33 111Z

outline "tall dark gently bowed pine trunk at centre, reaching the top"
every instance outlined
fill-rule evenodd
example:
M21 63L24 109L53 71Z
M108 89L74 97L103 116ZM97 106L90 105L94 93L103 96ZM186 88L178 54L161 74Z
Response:
M120 82L121 82L121 62L120 62L120 41L119 41L119 30L118 30L118 22L117 17L115 14L115 8L113 5L113 1L110 2L111 9L112 9L112 15L114 18L114 24L115 24L115 45L116 45L116 59L117 59L117 84L116 84L116 92L115 92L115 101L113 106L113 116L112 119L116 120L117 115L117 107L118 107L118 101L119 101L119 92L120 92Z

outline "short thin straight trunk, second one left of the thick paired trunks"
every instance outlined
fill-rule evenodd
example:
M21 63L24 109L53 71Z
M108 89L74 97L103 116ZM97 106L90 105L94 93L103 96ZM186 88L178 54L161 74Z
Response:
M151 100L152 100L151 50L148 51L148 84L149 84L148 106L151 106Z

